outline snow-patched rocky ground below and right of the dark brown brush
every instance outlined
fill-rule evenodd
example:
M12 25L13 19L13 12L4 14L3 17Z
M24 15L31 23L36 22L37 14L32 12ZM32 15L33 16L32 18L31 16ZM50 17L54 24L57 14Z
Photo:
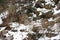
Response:
M60 0L35 1L39 12L32 13L32 17L22 14L22 23L10 22L10 27L0 27L0 40L60 40ZM0 14L0 24L7 14L8 11Z

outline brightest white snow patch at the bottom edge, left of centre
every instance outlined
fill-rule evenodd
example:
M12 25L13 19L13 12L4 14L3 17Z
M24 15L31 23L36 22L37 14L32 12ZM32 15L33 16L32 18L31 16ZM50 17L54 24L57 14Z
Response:
M25 37L27 37L27 32L20 32L20 31L17 31L17 32L12 32L12 31L9 31L8 32L10 35L13 35L13 40L23 40Z

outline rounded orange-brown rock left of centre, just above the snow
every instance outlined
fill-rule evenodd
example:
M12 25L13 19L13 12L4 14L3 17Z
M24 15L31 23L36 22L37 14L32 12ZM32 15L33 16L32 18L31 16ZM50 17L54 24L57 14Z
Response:
M27 14L20 14L18 16L17 22L20 23L20 24L27 25L31 22L31 20L28 18Z

